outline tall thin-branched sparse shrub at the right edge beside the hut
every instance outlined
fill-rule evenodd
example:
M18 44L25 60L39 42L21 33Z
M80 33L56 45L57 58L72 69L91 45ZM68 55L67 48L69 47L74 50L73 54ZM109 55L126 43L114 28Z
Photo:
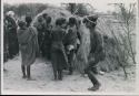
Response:
M126 67L136 64L136 46L135 44L135 3L130 3L129 9L123 3L115 4L118 8L118 13L115 13L115 18L120 21L119 25L122 28L122 32L119 33L119 38L116 36L116 32L111 31L116 41L119 56L117 57L119 64L125 71L126 77L128 73Z

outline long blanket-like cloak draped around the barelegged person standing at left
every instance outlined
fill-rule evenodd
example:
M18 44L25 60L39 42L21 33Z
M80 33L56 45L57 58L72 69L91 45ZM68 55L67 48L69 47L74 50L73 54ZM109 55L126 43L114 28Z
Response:
M37 30L29 26L26 30L18 30L18 41L20 43L22 65L31 65L39 55Z

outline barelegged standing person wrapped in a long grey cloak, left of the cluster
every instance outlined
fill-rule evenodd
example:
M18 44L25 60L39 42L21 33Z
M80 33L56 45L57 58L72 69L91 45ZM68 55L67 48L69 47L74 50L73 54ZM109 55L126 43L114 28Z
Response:
M37 40L37 30L32 26L28 26L24 21L18 22L18 41L21 50L21 70L23 78L31 81L30 67L34 63L36 57L39 53L38 40Z

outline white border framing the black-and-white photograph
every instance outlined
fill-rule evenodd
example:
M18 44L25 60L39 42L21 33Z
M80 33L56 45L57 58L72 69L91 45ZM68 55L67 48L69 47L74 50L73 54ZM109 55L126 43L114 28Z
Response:
M7 0L8 1L8 0ZM9 0L10 1L13 1L13 0ZM16 2L21 2L22 0L14 0ZM24 0L23 0L24 1ZM40 1L40 0L27 0L27 1L30 1L30 2L37 2L37 1ZM91 1L96 1L96 0L41 0L42 2L47 1L47 3L59 3L59 2L64 2L64 3L68 3L68 2L76 2L76 3L86 3L86 2L91 2ZM101 0L102 1L102 0ZM136 61L137 61L137 67L136 67L136 92L135 93L97 93L97 92L86 92L86 93L68 93L68 92L62 92L62 93L59 93L59 92L9 92L9 93L4 93L3 90L3 2L4 0L1 0L1 93L3 95L11 95L11 94L18 94L18 95L139 95L139 0L111 0L111 2L115 2L115 3L125 3L125 2L136 2L136 7L137 7L137 13L136 13L136 19L137 19L137 24L136 24L136 51L137 51L137 54L136 54ZM101 3L101 2L100 2Z

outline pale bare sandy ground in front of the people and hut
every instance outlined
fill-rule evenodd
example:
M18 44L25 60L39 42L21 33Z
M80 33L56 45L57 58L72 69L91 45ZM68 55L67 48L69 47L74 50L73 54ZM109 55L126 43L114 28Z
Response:
M52 67L50 63L46 64L44 60L38 58L31 67L31 75L36 81L27 81L22 78L21 58L17 56L4 63L7 72L3 72L3 92L88 92L88 87L92 84L88 77L83 77L77 72L73 75L67 75L64 72L63 81L52 81ZM135 67L128 79L125 79L122 70L97 75L101 83L98 92L135 92Z

